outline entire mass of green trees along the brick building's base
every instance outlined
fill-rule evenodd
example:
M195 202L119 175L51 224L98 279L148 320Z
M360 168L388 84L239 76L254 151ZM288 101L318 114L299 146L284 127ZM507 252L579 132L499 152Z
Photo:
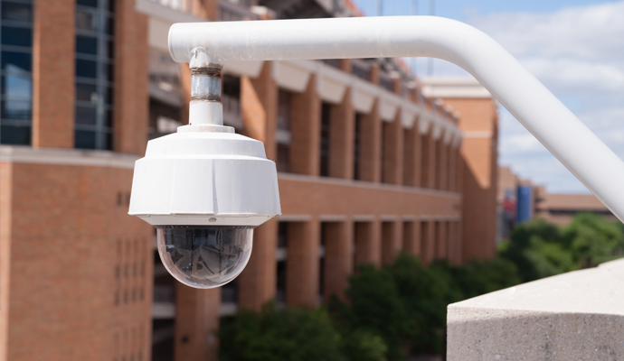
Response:
M402 254L383 269L362 265L346 300L328 310L241 310L223 319L224 361L394 361L443 355L449 303L624 255L624 226L591 214L563 229L544 220L516 227L493 260L428 267Z

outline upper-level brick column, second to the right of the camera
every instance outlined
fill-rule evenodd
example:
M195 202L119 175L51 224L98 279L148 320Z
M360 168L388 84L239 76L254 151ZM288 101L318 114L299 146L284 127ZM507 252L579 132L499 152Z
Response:
M320 167L321 99L317 94L317 76L311 75L306 91L293 93L290 119L290 171L318 175Z

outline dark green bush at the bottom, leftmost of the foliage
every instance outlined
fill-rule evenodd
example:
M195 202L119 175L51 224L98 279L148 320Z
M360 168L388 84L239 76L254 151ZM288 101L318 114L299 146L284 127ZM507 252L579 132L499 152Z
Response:
M219 336L222 360L346 360L340 334L320 309L280 309L269 303L260 313L241 310L222 321Z

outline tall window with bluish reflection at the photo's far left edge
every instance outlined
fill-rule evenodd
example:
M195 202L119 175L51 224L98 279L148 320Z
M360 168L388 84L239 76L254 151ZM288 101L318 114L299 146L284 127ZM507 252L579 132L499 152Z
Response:
M29 145L33 120L33 1L0 3L0 143Z

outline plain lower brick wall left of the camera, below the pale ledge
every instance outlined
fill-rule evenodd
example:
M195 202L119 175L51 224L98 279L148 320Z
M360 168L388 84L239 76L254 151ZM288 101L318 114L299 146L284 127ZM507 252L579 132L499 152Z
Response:
M147 359L152 230L127 214L132 171L11 167L5 359Z

